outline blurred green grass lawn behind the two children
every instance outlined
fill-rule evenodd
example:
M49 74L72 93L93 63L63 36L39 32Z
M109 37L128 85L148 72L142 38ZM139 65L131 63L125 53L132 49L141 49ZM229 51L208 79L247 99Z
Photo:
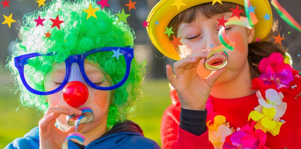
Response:
M38 126L43 117L43 114L33 108L19 106L19 92L14 94L15 91L9 71L0 69L0 148L4 148L17 137L23 137L29 130ZM161 117L171 104L168 81L146 80L143 92L144 98L137 104L136 116L129 119L140 125L145 137L155 140L161 146ZM16 111L17 108L19 110Z

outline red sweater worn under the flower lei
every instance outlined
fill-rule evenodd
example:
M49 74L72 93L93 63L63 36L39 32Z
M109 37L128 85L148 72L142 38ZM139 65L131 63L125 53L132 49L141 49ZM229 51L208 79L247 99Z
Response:
M283 102L287 103L285 114L281 117L285 120L280 128L280 133L273 136L267 132L266 146L271 149L297 149L301 148L301 76L298 71L293 70L294 81L292 85L297 85L293 90L289 88L290 95L284 94ZM179 127L181 104L175 90L170 91L172 104L164 111L161 122L161 141L163 149L213 149L213 145L208 140L208 128L205 133L195 136ZM294 97L297 97L295 99ZM226 117L230 126L234 129L247 124L248 115L258 106L256 94L248 95L236 99L217 99L210 96L214 112ZM208 120L208 117L207 117Z

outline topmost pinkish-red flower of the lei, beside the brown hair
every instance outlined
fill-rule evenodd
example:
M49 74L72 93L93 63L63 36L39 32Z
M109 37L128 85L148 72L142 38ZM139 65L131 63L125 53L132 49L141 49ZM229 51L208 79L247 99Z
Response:
M259 62L258 70L260 73L268 73L268 70L274 73L281 73L283 70L292 72L292 67L284 63L284 59L280 53L272 53L269 57L263 58Z

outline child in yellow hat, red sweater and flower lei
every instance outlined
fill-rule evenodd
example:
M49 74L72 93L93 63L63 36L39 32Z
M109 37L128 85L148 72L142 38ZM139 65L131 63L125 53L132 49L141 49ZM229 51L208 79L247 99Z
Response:
M301 76L268 0L161 0L147 21L154 46L177 60L166 66L163 149L301 146Z

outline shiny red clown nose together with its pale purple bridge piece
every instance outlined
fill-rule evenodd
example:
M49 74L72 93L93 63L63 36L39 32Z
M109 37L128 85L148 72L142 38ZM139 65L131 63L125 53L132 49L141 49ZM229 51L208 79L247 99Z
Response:
M89 96L89 91L82 78L81 71L77 63L72 63L68 83L63 89L64 101L73 107L83 105Z

